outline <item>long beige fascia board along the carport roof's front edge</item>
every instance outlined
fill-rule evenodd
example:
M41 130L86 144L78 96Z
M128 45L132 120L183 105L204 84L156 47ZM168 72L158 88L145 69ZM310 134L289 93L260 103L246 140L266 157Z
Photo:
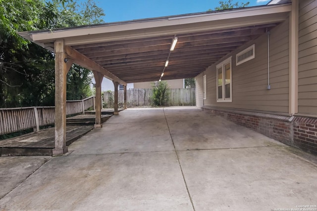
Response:
M186 24L198 24L203 22L218 22L221 20L229 20L230 23L234 23L235 19L239 18L250 18L252 22L256 17L260 17L263 15L274 15L291 11L290 4L282 4L282 5L272 5L272 6L262 6L262 7L251 7L251 8L243 8L243 9L234 9L228 11L219 11L212 13L204 13L204 14L193 14L193 15L185 15L185 16L176 16L170 17L166 19L159 20L149 20L149 21L138 21L138 22L127 22L113 25L98 25L94 27L82 27L82 28L70 28L56 31L46 31L46 32L29 32L28 36L31 36L31 41L37 42L49 42L54 41L56 39L67 39L67 38L76 38L81 36L94 36L94 35L103 35L107 33L120 33L124 31L137 31L143 30L147 31L153 28L162 28L162 27L176 27L184 25L186 28ZM254 21L253 21L254 22ZM260 22L263 22L260 21ZM256 24L256 23L254 23ZM220 28L219 28L220 29ZM162 30L164 31L164 30ZM22 35L23 33L19 33ZM163 35L164 33L162 33ZM27 36L23 34L26 39Z

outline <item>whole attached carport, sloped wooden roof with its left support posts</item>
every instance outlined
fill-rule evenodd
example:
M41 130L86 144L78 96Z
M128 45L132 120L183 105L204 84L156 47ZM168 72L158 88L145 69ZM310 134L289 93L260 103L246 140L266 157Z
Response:
M195 77L237 47L288 18L290 4L202 12L74 28L21 32L55 53L55 149L66 153L66 74L72 63L93 71L96 125L101 122L101 83L127 83ZM174 50L173 40L177 38ZM168 60L168 66L165 67ZM125 99L126 102L126 99ZM117 108L115 108L115 112Z

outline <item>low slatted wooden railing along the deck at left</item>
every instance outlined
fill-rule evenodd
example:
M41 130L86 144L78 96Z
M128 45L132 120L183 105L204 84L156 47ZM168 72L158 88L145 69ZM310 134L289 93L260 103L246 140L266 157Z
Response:
M94 107L95 97L83 100L67 100L66 114L84 113ZM34 128L39 131L41 126L52 125L55 122L55 107L24 107L0 108L0 135L19 130Z

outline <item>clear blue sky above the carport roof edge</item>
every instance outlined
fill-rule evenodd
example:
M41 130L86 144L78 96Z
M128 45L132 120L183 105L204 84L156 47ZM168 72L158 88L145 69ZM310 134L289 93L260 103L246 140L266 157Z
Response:
M233 2L248 0L233 0ZM264 5L269 0L249 0L249 6ZM219 0L96 0L106 13L105 22L153 18L205 12L219 5Z

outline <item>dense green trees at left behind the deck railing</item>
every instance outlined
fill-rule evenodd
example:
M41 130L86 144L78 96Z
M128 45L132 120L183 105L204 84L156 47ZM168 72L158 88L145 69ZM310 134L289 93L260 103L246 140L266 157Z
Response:
M54 54L17 32L103 22L94 0L0 0L0 107L54 105ZM91 72L73 65L67 97L91 94Z

